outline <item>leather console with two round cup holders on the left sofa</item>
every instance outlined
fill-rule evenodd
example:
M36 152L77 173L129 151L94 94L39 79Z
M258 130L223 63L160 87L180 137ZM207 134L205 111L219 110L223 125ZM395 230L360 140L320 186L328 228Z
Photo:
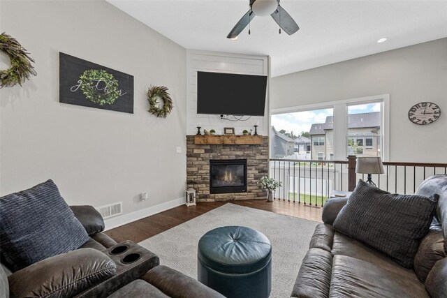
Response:
M124 285L140 278L150 269L160 265L159 257L132 241L123 241L109 247L103 253L115 262L117 273L97 287L82 292L76 298L107 297Z

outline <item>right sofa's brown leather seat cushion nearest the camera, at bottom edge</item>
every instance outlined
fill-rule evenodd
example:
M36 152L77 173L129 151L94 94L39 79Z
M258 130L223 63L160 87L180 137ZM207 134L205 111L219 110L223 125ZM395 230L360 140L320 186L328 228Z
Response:
M409 281L405 276L377 265L335 255L332 262L329 297L395 298L430 297L423 283Z

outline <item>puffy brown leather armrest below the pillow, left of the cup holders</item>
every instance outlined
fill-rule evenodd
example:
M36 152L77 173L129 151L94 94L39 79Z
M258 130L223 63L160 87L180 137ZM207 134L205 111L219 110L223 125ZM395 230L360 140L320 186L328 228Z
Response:
M93 248L41 260L8 276L11 297L73 297L114 276L117 266Z

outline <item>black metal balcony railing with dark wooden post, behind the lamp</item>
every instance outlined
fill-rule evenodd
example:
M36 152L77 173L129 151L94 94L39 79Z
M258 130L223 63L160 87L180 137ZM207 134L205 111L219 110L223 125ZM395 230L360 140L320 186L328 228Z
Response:
M447 163L384 162L385 174L373 174L376 185L393 193L415 193L418 185L433 174L447 174ZM358 179L356 156L348 161L270 159L270 177L282 186L274 198L322 207L332 191L353 191Z

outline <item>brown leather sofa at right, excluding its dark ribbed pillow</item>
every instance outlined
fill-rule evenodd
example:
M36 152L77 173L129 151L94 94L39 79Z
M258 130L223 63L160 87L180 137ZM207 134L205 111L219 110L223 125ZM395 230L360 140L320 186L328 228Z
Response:
M413 269L334 230L332 223L348 198L330 198L291 297L447 297L447 175L426 179L416 193L437 193L439 201Z

